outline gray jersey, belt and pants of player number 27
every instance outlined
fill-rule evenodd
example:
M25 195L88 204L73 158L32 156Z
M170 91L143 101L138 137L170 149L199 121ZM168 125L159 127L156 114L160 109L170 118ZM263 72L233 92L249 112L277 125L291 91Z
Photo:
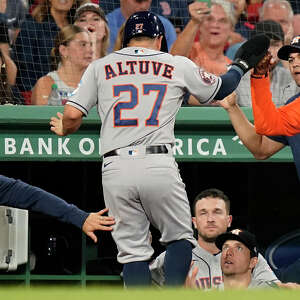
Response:
M163 244L197 243L172 155L175 116L187 91L208 103L220 86L185 57L129 47L91 63L67 102L85 115L98 108L103 194L120 263L151 258L150 223Z

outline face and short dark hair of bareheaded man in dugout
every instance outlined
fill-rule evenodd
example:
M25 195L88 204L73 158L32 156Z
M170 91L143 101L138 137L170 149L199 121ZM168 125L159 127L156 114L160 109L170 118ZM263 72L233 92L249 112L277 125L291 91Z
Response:
M220 198L202 198L195 207L193 223L198 231L198 238L213 243L218 235L227 231L232 216L226 210L224 200Z

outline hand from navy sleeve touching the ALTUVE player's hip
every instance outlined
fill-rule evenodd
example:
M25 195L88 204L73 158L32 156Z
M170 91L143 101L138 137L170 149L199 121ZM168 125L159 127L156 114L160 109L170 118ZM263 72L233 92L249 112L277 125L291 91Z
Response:
M96 213L90 213L82 226L82 231L97 243L95 230L112 231L112 225L115 224L114 217L103 216L108 212L108 208L102 209Z

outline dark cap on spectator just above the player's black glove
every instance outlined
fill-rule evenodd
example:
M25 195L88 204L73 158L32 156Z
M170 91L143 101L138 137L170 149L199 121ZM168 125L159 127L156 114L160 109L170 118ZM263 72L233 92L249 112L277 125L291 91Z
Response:
M266 20L256 23L255 28L251 31L251 38L257 34L265 34L269 39L275 41L284 41L284 32L279 23Z

